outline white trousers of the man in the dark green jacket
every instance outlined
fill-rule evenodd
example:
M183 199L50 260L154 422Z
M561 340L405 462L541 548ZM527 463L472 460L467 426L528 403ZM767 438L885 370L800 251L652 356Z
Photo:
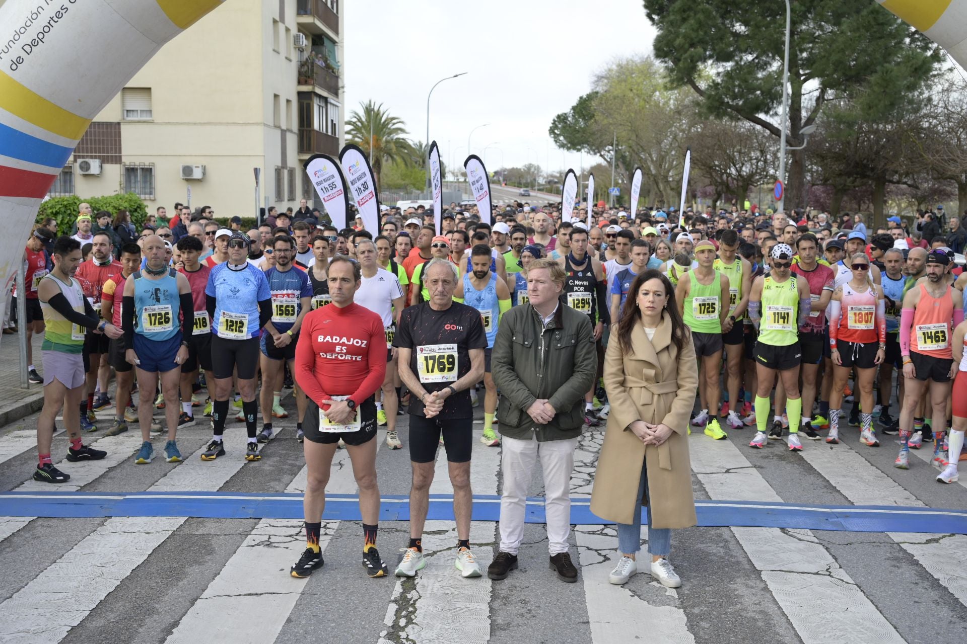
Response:
M577 438L539 442L501 436L504 494L500 498L500 549L517 554L524 538L527 487L541 457L547 549L551 555L568 551L571 536L571 470Z

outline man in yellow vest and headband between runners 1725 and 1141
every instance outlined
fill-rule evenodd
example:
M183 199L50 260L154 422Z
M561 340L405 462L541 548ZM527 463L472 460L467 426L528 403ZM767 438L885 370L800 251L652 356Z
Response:
M718 238L718 257L713 268L728 277L729 306L728 317L722 321L722 344L725 349L726 390L728 391L728 413L725 422L733 430L743 427L740 410L743 402L739 400L742 385L742 360L745 350L746 309L748 292L752 288L752 265L739 257L739 235L733 230L724 230ZM724 407L724 406L723 406Z

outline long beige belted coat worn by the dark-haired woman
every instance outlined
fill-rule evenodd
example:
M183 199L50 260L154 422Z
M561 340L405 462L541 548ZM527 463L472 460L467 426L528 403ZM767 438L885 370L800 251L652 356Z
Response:
M689 464L689 415L698 390L695 348L687 332L681 351L671 342L665 313L655 337L635 324L625 353L612 332L604 356L604 389L611 413L595 472L591 511L601 518L630 523L634 504L649 507L652 526L695 525L695 499ZM664 423L673 432L658 447L645 445L628 426L632 421ZM636 499L641 467L648 463L647 499Z

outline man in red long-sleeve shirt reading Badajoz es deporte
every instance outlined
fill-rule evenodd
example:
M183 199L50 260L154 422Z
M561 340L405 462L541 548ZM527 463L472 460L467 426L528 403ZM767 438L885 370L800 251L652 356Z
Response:
M387 574L376 550L379 488L376 485L376 403L373 397L386 377L386 336L379 315L353 301L362 284L360 265L337 256L327 281L331 306L303 319L296 346L295 378L308 398L306 440L308 477L303 507L306 550L290 569L308 577L322 566L319 531L326 507L326 483L342 438L360 489L363 516L363 564L366 574Z

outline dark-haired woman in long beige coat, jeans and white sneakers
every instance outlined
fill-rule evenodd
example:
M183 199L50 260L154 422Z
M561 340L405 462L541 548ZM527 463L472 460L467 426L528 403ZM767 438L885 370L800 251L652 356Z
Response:
M691 333L675 306L675 289L658 270L631 283L604 357L611 404L591 510L618 523L622 552L610 582L637 573L641 506L648 506L651 574L677 588L682 580L665 558L671 529L694 525L689 466L689 414L698 388Z

